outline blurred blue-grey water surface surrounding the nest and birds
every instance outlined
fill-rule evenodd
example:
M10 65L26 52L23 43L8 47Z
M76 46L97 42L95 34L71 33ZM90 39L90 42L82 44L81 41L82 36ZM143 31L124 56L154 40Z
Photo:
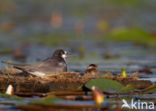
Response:
M106 37L114 28L141 27L150 34L155 31L155 1L147 3L141 1L141 3L143 4L125 7L107 1L88 2L87 0L70 1L70 3L2 1L0 4L4 6L0 8L0 51L6 49L11 51L8 54L0 54L0 61L34 63L51 56L55 49L63 48L73 55L66 60L69 72L83 73L89 64L97 64L99 72L114 72L115 75L120 74L121 68L126 68L128 75L149 68L152 74L139 73L138 76L140 80L156 83L154 47L131 42L108 42L100 38ZM52 23L53 14L58 14L55 17L62 19L60 27ZM64 39L66 36L69 38ZM47 46L49 42L51 45ZM21 48L21 52L26 55L24 61L15 59L13 51L17 48ZM0 68L5 69L5 64L0 64ZM155 94L150 96L155 99ZM27 104L32 99L38 98L24 98L20 102ZM113 101L108 100L110 103ZM20 103L0 97L1 102L15 105ZM68 104L78 104L77 102L93 104L93 101L71 101ZM64 101L62 103L67 104ZM17 109L13 105L0 104L0 110Z

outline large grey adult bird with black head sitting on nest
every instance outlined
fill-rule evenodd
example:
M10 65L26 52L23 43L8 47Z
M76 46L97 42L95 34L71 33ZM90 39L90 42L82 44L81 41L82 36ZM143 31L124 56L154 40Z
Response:
M65 60L67 56L70 56L67 51L57 49L51 57L46 58L41 62L36 62L34 64L8 64L13 65L14 68L22 70L23 72L44 77L51 74L67 72L67 64Z

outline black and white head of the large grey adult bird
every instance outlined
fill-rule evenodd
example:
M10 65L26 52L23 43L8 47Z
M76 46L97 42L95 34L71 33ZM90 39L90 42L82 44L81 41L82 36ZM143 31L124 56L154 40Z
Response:
M67 56L69 56L69 54L63 49L57 49L53 54L53 57L66 58Z

